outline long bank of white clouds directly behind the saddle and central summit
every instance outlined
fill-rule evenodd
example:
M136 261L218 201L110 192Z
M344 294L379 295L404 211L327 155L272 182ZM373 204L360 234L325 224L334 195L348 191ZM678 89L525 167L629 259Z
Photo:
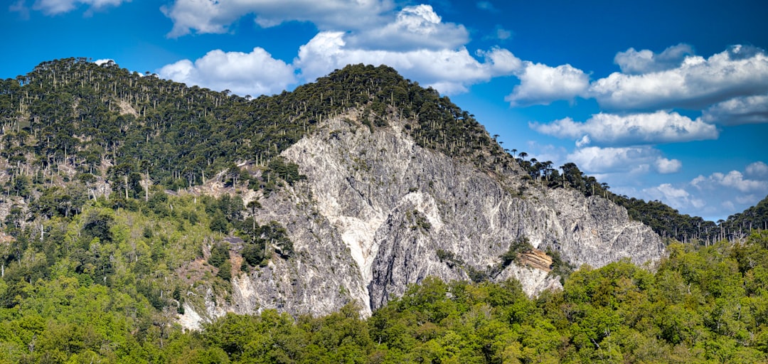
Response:
M174 8L190 4L179 1ZM210 11L214 11L224 6L222 4L206 6L211 6ZM364 8L369 9L369 12L379 12L379 8L386 8L379 5L369 4ZM194 2L194 6L202 5ZM242 9L237 12L232 10L227 14L237 15L242 12ZM377 19L382 16L377 15ZM293 18L297 17L299 15ZM221 21L216 24L223 23ZM455 94L467 91L472 84L513 74L524 67L523 61L503 48L470 54L464 46L468 42L468 31L462 25L442 22L442 18L429 5L402 8L392 14L389 22L379 23L377 27L362 31L320 31L300 46L296 58L290 64L271 58L261 48L255 48L249 56L217 50L210 51L196 61L182 60L166 65L158 74L163 78L207 88L226 87L237 94L258 95L279 92L297 82L314 81L349 64L386 64L396 68L406 78L418 80L445 94ZM199 25L195 28L197 31L207 29L200 25L207 24L205 22L196 21L195 24ZM223 28L214 28L210 28L210 31L223 31ZM237 72L227 73L225 70L246 71L244 74L249 77L238 78Z

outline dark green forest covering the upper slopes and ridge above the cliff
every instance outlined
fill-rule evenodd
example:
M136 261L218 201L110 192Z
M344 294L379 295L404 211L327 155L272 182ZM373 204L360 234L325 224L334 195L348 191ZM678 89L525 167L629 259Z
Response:
M662 237L714 241L748 230L746 220L729 219L718 226L657 201L612 194L575 164L558 168L550 161L529 160L524 151L505 150L472 114L386 66L348 66L293 92L251 99L131 73L112 62L47 61L26 75L0 81L0 163L5 168L0 181L6 196L26 200L68 180L81 181L88 195L108 182L123 197L111 197L115 204L129 203L127 197L146 199L149 186L177 190L203 184L222 171L230 183L269 191L275 188L270 171L287 180L298 177L290 165L279 160L270 165L270 160L323 116L350 109L359 110L369 127L383 126L386 114L407 119L406 131L419 145L478 167L519 166L548 187L607 197ZM64 205L60 212L78 212L81 200L51 194ZM766 221L751 219L754 227Z

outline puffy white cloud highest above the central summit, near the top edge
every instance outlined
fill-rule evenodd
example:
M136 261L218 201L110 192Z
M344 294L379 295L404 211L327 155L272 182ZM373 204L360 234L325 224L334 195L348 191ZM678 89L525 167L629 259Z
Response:
M430 5L403 8L394 22L345 37L349 48L376 50L455 49L469 41L464 25L443 23Z

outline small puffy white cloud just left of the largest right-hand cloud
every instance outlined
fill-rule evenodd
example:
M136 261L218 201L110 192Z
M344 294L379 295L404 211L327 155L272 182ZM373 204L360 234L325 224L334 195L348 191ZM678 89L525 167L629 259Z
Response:
M512 89L505 101L511 106L551 104L557 100L572 100L587 96L589 76L571 65L550 67L541 63L524 62L521 71L515 72L520 84Z

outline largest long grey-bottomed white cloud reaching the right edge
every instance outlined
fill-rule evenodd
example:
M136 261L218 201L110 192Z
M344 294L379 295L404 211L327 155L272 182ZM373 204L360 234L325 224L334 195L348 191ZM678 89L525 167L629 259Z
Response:
M706 59L687 56L680 66L665 71L615 72L590 87L601 107L624 110L698 108L766 92L768 56L760 49L740 45Z

